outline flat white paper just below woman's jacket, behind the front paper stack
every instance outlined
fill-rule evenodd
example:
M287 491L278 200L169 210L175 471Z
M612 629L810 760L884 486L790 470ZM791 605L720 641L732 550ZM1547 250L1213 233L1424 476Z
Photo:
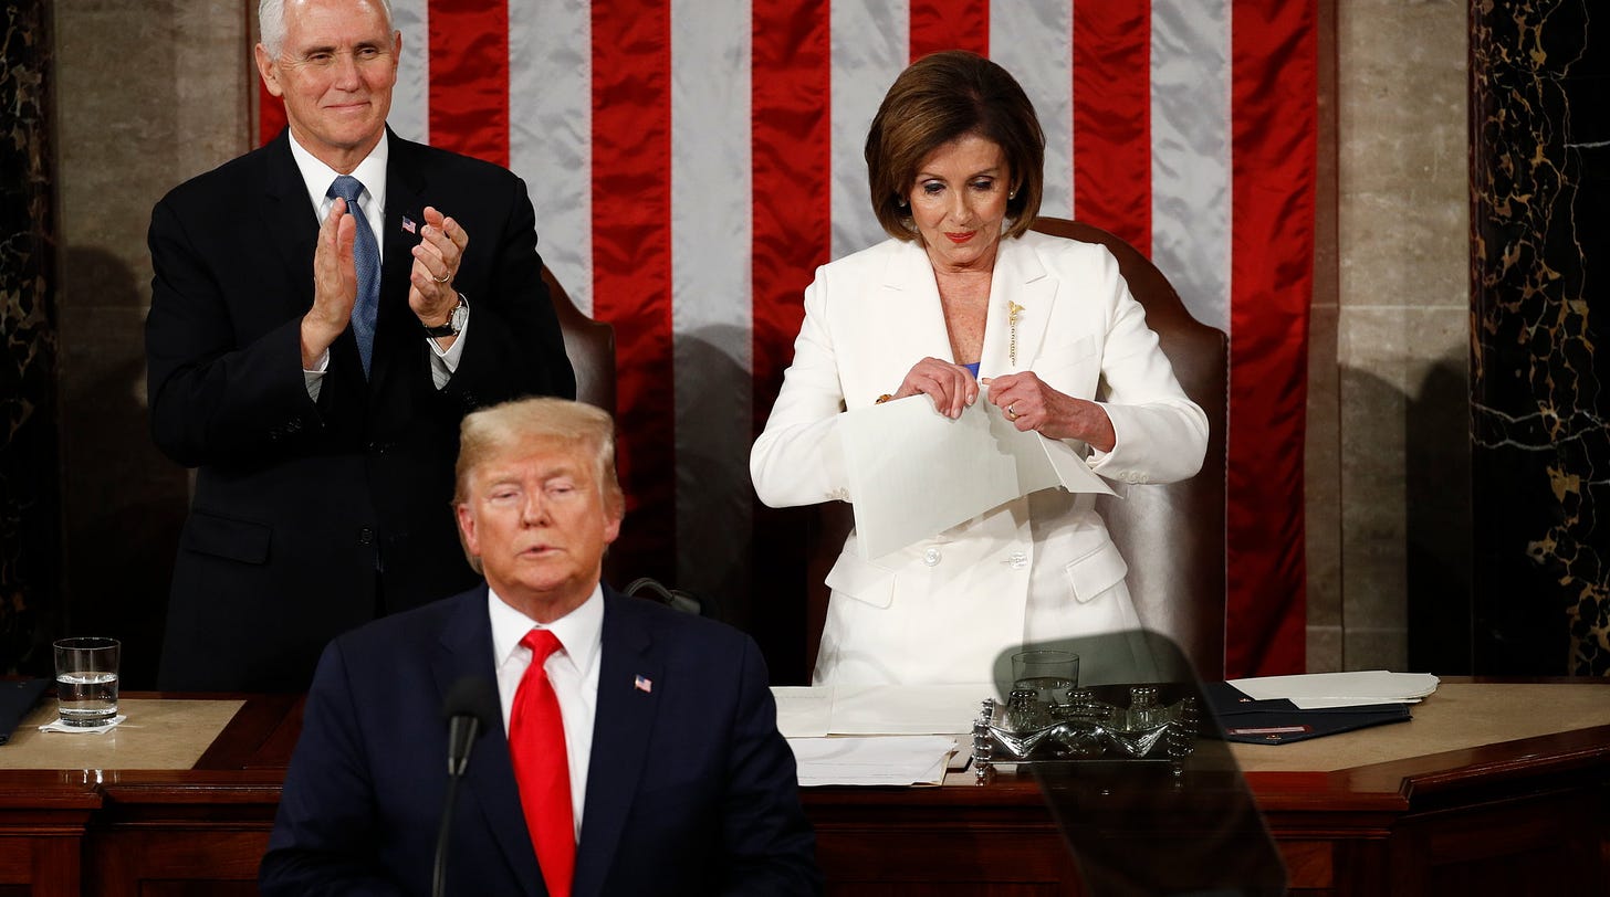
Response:
M953 735L972 731L979 706L995 696L977 685L840 685L832 696L834 735Z

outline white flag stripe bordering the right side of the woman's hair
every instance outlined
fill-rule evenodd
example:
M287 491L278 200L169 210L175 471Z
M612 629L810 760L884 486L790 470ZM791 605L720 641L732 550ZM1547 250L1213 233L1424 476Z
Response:
M1045 130L1042 215L1074 214L1074 8L1067 0L990 3L990 58L1022 85Z

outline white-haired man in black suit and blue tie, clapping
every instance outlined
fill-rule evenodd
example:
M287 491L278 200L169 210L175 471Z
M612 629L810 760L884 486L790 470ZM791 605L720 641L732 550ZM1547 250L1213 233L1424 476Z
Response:
M151 212L151 432L200 468L164 690L303 690L336 633L475 582L459 420L575 395L525 183L386 129L388 0L259 19L288 129Z

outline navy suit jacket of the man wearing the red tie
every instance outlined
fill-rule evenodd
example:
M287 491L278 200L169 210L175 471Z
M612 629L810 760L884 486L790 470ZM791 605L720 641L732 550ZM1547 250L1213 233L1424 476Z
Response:
M794 754L744 633L604 588L575 897L818 892ZM634 686L636 677L650 690ZM336 638L319 662L264 894L428 894L444 693L494 683L486 587ZM494 685L489 685L496 690ZM544 894L502 725L470 754L448 894Z

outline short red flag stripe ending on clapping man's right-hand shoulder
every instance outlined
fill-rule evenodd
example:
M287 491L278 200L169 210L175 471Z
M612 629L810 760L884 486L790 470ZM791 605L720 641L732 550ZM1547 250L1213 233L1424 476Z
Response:
M509 166L509 6L430 3L430 133L443 150Z

